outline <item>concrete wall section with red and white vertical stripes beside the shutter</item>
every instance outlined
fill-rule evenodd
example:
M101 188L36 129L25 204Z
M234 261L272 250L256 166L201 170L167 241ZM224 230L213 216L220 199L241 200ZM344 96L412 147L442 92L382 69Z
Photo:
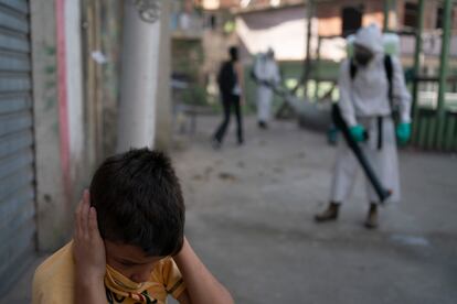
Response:
M87 184L79 1L31 1L38 249L71 238Z

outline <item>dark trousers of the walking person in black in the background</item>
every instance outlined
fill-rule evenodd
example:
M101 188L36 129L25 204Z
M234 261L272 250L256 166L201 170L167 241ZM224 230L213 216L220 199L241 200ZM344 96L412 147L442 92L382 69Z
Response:
M233 108L235 110L237 122L236 134L238 137L238 143L243 143L243 118L241 112L240 96L233 94L222 94L222 106L224 107L224 120L217 128L217 131L214 134L214 139L219 142L223 141L225 132L228 128L230 116Z

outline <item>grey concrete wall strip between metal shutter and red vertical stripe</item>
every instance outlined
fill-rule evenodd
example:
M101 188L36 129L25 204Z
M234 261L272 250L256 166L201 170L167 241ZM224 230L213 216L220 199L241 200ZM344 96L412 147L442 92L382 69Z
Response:
M61 163L54 1L31 1L38 248L66 238L67 199Z

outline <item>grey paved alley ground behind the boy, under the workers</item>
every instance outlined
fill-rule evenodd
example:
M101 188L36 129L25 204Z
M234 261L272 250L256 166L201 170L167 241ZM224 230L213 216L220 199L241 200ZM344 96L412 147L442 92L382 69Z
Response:
M245 145L231 130L214 151L216 123L199 117L172 159L187 235L236 303L457 303L456 155L401 152L404 199L381 209L379 230L362 226L361 173L339 220L317 225L336 153L325 137L290 121L261 131L248 118Z

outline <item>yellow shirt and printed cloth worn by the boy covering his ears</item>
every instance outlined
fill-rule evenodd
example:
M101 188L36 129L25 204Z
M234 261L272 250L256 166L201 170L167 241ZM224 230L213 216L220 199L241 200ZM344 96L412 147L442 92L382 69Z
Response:
M73 241L47 258L33 278L33 304L74 303ZM178 298L185 290L173 259L160 260L148 282L137 284L107 265L106 303L167 303L167 295ZM156 301L157 300L157 301Z

